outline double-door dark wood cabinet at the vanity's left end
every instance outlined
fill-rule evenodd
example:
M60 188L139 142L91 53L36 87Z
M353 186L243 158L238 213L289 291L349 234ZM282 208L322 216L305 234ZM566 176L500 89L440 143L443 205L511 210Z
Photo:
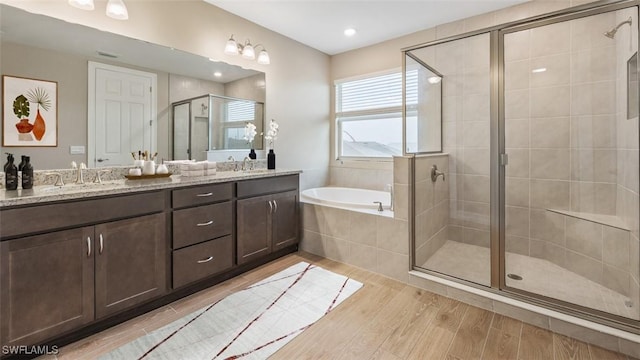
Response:
M41 216L55 206L32 212ZM162 209L157 203L149 206L137 208ZM0 242L0 343L36 344L166 293L165 217L156 213L69 230L54 227L49 233Z

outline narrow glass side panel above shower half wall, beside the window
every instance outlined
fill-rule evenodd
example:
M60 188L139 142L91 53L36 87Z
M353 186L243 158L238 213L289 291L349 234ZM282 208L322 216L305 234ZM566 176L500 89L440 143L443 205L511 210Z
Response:
M442 152L443 77L425 60L405 53L406 153Z

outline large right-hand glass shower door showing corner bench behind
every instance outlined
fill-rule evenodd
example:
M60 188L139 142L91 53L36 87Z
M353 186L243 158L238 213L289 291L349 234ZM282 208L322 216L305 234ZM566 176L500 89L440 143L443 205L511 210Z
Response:
M638 10L502 34L502 286L640 319Z

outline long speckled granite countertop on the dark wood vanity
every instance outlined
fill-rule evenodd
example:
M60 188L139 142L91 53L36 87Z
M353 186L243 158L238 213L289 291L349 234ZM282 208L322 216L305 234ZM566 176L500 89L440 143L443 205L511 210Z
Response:
M299 174L300 170L266 170L251 171L218 171L216 175L185 177L171 175L167 178L144 180L110 180L102 184L87 182L85 184L66 184L64 186L41 185L29 190L0 190L0 208L28 204L40 204L53 201L83 199L98 196L129 194L140 191L162 190L177 187L215 184L228 181L267 178L273 176Z

